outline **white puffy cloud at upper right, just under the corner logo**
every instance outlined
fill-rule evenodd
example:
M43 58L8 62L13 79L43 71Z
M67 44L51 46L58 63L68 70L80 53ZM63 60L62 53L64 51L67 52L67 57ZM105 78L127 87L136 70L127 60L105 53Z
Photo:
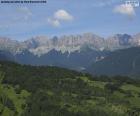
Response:
M127 15L129 17L133 17L136 14L135 9L132 5L125 5L125 4L116 6L114 8L114 12L122 15Z

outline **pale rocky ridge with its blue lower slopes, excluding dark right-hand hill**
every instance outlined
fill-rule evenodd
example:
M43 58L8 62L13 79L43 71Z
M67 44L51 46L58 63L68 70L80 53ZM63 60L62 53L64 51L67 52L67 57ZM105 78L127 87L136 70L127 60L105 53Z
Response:
M60 37L37 36L23 42L0 37L0 57L21 64L85 71L113 51L139 45L140 34L116 34L107 38L92 33Z

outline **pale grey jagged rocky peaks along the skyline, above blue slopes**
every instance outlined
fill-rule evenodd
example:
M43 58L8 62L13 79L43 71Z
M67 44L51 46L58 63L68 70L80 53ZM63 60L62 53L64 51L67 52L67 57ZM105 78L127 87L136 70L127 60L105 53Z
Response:
M19 54L23 50L28 50L34 55L41 56L55 49L56 51L74 52L81 51L85 47L102 51L114 51L140 45L140 33L136 35L115 34L103 38L92 33L82 35L69 35L61 37L37 36L23 42L0 37L0 50L7 50L13 54Z

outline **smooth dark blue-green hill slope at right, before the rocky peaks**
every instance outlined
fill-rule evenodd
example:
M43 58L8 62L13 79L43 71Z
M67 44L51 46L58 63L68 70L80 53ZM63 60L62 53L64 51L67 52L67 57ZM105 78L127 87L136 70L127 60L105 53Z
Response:
M140 47L112 52L88 70L99 75L140 75Z

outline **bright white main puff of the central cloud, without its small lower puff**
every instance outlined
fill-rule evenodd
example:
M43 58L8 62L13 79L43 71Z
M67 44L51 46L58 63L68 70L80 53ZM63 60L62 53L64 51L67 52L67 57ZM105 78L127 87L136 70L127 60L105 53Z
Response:
M73 16L71 14L69 14L67 11L65 10L58 10L54 13L54 18L58 19L58 20L62 20L62 21L71 21L73 20Z

